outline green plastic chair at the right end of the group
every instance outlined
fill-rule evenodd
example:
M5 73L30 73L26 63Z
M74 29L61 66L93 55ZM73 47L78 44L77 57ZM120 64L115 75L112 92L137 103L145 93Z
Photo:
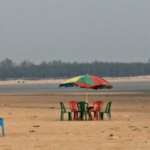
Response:
M106 114L109 119L111 119L111 105L112 102L108 102L106 108L103 112L99 112L99 116L101 120L104 120L104 115Z

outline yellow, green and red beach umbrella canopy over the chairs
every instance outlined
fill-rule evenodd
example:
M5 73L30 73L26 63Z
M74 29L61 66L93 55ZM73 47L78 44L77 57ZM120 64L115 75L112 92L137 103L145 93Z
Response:
M81 75L70 78L59 85L60 87L73 87L77 86L86 89L104 89L112 88L109 82L101 77L95 75Z

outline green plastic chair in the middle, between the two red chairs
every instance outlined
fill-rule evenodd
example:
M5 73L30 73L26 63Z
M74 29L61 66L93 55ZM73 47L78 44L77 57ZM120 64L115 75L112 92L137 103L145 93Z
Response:
M87 120L88 103L86 103L85 101L80 101L78 102L78 108L79 108L79 113L80 113L79 119L84 120L84 117L85 117L85 120Z

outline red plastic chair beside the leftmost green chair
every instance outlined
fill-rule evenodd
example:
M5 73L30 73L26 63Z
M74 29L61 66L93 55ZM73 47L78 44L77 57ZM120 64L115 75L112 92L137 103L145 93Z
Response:
M71 110L71 112L73 112L73 120L78 120L78 103L77 103L77 101L74 101L74 100L72 100L72 101L70 101L69 102L69 107L70 107L70 110Z

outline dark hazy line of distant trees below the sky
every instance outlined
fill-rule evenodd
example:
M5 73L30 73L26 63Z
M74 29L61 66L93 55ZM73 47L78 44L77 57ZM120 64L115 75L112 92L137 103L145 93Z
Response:
M23 61L14 63L11 59L0 62L0 79L40 79L64 78L81 74L95 74L100 76L136 76L150 74L150 63L69 63L62 61L42 62L34 64Z

